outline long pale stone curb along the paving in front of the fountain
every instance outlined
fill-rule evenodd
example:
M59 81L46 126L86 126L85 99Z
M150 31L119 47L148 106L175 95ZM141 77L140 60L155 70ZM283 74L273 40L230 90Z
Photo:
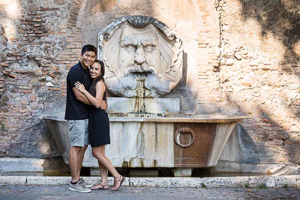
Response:
M92 184L99 183L101 177L83 177ZM0 185L67 185L70 177L49 176L0 176ZM300 187L300 175L288 176L247 176L247 177L208 177L208 178L128 178L124 186L136 187L201 187L208 188L250 188L265 184L266 187ZM113 178L108 177L108 184L113 185Z

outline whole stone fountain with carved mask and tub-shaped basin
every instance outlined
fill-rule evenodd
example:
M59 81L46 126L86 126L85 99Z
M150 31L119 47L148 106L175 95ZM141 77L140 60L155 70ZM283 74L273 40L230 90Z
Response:
M182 40L149 16L124 16L98 35L98 59L104 61L109 97L111 145L106 155L115 167L216 166L237 115L180 113L180 98L164 97L182 79ZM180 94L179 94L180 95ZM68 164L70 136L64 110L39 113ZM84 167L98 167L85 153ZM180 175L180 174L179 174Z

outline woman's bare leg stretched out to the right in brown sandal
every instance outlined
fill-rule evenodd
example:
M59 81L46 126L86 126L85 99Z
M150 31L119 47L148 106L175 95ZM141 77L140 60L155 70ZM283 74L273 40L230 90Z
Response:
M92 148L92 155L97 158L98 162L100 162L101 166L106 168L112 175L113 178L115 179L115 185L112 188L112 190L116 190L121 182L119 180L122 180L122 176L117 172L117 170L114 168L113 163L105 156L105 154L102 154L103 148L105 148L105 145L101 145L99 147L93 147ZM104 150L105 153L105 150ZM100 166L99 166L100 167ZM101 172L102 173L102 172Z

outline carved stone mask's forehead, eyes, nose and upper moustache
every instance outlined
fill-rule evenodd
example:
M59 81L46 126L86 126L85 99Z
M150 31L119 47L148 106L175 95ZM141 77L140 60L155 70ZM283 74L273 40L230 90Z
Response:
M127 25L121 34L120 46L121 73L163 73L157 31L153 25L143 29Z

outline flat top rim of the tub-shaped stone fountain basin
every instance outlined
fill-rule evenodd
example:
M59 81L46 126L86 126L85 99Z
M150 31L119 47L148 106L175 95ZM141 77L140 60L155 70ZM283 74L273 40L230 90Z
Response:
M184 114L182 114L184 116ZM190 116L190 115L188 115ZM193 115L191 115L193 116ZM247 119L241 115L226 115L226 114L204 114L195 116L207 117L109 117L110 122L196 122L196 123L228 123L228 122L242 122ZM61 122L67 122L64 119L64 111L40 112L34 114L38 119L49 119Z

